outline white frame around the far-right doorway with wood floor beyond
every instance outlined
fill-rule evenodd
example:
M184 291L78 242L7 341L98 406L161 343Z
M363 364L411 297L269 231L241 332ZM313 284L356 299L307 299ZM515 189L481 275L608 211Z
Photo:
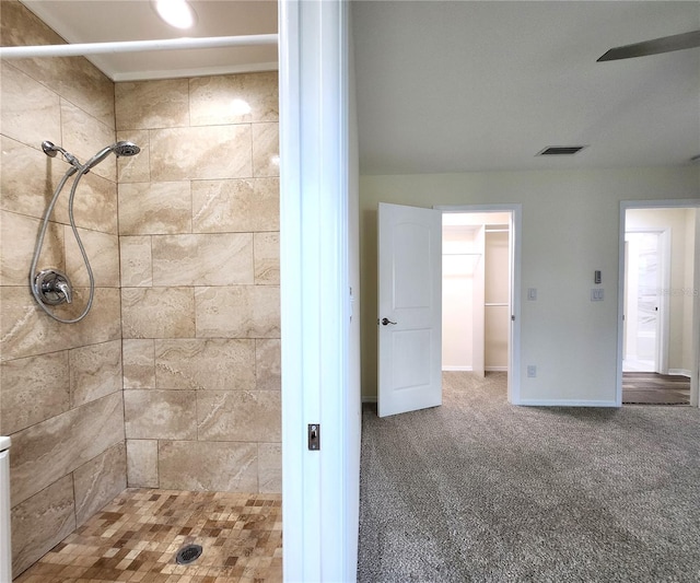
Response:
M617 299L617 387L616 404L617 407L622 406L622 357L623 357L623 335L625 322L625 232L626 232L626 214L629 209L697 209L700 214L700 200L690 199L668 199L668 200L621 200L620 201L620 228L619 228L619 245L618 245L618 299ZM696 269L693 289L696 292L700 289L700 269L698 267L698 258L700 257L700 233L698 233L700 220L696 221ZM699 384L700 384L700 298L699 293L693 293L692 302L692 370L690 374L690 405L699 406Z

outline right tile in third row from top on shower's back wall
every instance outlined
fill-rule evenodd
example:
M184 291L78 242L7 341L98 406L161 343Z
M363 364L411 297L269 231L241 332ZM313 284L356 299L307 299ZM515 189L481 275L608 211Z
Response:
M192 183L196 233L279 231L278 178Z

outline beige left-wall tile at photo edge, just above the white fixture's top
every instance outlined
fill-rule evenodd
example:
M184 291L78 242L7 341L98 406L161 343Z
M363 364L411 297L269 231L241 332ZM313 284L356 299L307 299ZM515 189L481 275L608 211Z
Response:
M9 435L70 409L68 352L3 362L0 434Z

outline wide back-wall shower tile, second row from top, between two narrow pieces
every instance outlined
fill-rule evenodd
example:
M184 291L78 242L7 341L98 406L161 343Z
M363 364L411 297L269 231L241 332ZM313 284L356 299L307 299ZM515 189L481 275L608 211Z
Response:
M151 131L151 179L211 180L253 175L250 126Z

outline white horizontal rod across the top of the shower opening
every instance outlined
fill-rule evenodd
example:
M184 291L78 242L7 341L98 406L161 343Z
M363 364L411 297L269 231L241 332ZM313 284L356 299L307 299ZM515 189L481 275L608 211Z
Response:
M26 59L32 57L84 57L85 55L140 53L144 50L247 47L255 45L277 45L278 38L277 34L255 34L247 36L207 36L201 38L162 38L156 40L120 40L114 43L78 43L74 45L0 47L0 57L3 59Z

